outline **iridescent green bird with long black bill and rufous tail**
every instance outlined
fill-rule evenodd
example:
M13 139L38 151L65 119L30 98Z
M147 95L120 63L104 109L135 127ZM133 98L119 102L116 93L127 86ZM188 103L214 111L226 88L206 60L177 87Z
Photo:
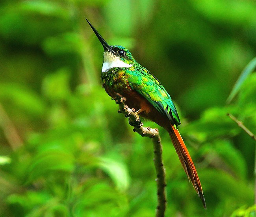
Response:
M150 71L134 59L128 49L120 45L110 46L95 27L87 22L104 48L100 76L102 87L113 99L116 93L126 97L129 108L134 108L139 116L167 130L182 167L206 209L197 170L178 131L180 118L169 93Z

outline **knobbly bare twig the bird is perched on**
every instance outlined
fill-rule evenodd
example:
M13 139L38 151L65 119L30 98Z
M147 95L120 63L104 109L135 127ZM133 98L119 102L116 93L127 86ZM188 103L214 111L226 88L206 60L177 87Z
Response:
M149 137L152 139L154 146L154 164L156 168L156 183L157 183L157 195L158 195L158 206L156 209L156 217L164 217L166 208L166 192L165 192L165 169L163 168L162 160L162 145L161 139L158 133L158 129L143 127L139 115L135 113L134 109L130 109L124 104L126 101L125 97L122 97L117 93L115 102L119 104L118 113L123 113L125 117L128 117L129 124L134 127L133 131L139 133L143 137Z

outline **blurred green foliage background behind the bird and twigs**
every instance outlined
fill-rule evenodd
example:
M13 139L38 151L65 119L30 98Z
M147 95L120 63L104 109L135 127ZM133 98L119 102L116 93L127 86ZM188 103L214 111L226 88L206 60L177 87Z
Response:
M0 216L154 216L152 143L101 88L103 49L85 18L178 108L208 209L160 129L166 216L255 216L255 141L226 116L256 133L255 73L226 104L256 56L255 11L254 0L1 0Z

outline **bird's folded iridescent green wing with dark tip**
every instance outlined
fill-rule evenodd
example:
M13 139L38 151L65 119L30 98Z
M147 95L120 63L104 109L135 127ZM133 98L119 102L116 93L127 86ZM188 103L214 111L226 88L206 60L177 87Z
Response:
M147 69L127 70L127 80L132 89L145 97L160 113L166 115L174 124L180 124L180 118L173 100L163 85Z

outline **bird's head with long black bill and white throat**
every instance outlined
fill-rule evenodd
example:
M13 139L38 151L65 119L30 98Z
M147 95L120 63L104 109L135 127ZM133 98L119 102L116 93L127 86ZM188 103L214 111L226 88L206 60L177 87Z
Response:
M87 19L86 19L87 20ZM95 35L100 40L104 48L104 59L102 72L106 72L114 67L131 67L136 62L132 57L132 54L128 49L122 47L120 45L110 46L98 33L98 31L91 25L91 23L87 20L91 28L93 29Z

